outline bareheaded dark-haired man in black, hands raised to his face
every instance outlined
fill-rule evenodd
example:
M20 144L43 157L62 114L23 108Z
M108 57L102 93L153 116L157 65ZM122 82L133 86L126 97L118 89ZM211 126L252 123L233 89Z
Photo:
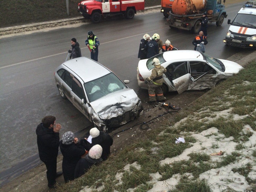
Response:
M55 188L55 178L62 175L62 172L56 173L61 125L55 124L55 122L54 116L46 116L36 128L39 157L47 168L46 176L49 188Z

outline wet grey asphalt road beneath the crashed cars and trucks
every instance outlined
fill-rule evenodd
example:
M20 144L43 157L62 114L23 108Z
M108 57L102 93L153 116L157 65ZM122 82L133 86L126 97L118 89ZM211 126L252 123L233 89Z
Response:
M221 27L209 24L206 53L222 59L236 53L252 53L251 50L235 49L223 43L229 28L227 19L232 20L242 5L226 7L228 17ZM170 29L158 10L135 15L132 20L118 17L99 24L79 24L0 38L0 185L9 181L11 176L41 163L35 128L44 116L56 117L56 122L62 125L60 135L73 131L80 138L92 127L68 100L61 99L53 77L54 70L66 59L72 37L80 43L82 56L90 57L84 41L91 30L100 41L99 62L122 80L130 80L128 86L143 101L147 100L147 92L139 90L136 79L142 36L158 33L163 42L169 39L172 45L182 50L193 50L192 40L196 36L188 31Z

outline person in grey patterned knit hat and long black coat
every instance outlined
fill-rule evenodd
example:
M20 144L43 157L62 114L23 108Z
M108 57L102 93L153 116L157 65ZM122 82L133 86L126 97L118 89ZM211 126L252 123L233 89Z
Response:
M86 154L86 150L71 131L64 133L59 148L63 155L62 171L64 181L72 181L75 179L75 166L81 157Z

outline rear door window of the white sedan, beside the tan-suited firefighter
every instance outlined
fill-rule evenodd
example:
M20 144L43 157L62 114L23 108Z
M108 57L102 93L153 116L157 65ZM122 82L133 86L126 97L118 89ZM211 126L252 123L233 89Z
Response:
M172 81L188 73L187 61L171 63L166 67L165 75Z

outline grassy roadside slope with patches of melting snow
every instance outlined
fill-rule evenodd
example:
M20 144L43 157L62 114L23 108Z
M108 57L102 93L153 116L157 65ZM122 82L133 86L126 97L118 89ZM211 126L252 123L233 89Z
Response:
M255 74L256 61L57 191L256 191Z

